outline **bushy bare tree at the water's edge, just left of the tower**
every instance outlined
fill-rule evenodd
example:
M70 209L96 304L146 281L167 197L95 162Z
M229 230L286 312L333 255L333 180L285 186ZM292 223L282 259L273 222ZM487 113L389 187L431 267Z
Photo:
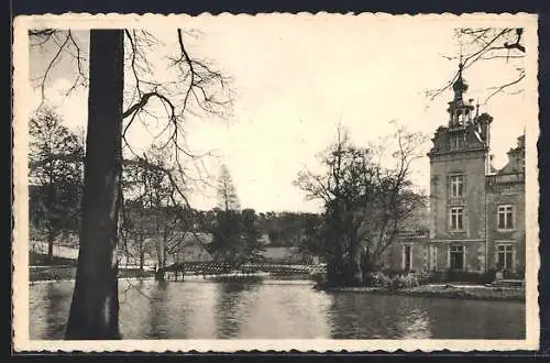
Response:
M381 161L381 147L356 147L345 130L320 155L324 172L300 172L295 185L324 204L320 246L331 284L362 284L363 273L378 267L403 222L424 197L411 189L411 163L424 138L398 129L394 164Z

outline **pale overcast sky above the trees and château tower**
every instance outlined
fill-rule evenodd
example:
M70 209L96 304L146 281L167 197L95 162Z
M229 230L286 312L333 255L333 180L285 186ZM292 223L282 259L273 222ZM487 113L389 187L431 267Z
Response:
M443 86L457 72L459 45L453 29L459 23L362 18L238 16L189 19L182 26L198 30L187 36L194 57L208 58L232 77L234 107L228 120L190 118L186 130L197 152L216 151L219 158L206 162L212 176L219 164L228 166L244 208L257 211L318 210L292 182L315 155L336 138L339 122L351 131L358 145L391 134L396 120L411 131L430 136L447 124L446 91L430 101L425 91ZM166 46L175 45L175 30L156 32ZM82 48L87 32L77 34ZM31 52L31 76L51 58L51 52ZM481 101L490 87L513 80L516 64L480 63L464 74L470 85L465 98ZM75 64L62 62L46 88L47 105L57 108L73 129L87 121L87 90L65 96ZM529 72L529 69L527 69ZM517 90L515 88L514 90ZM40 102L35 90L30 105ZM495 166L506 162L526 122L525 94L501 95L482 106L494 117L492 148ZM536 121L535 121L536 122ZM131 142L146 145L148 135L133 131ZM426 145L426 151L429 143ZM429 161L415 165L415 182L428 189ZM196 208L216 204L216 190L191 197Z

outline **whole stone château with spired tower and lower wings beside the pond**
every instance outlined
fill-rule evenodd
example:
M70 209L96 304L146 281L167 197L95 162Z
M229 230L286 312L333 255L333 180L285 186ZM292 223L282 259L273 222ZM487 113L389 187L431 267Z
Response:
M525 135L501 169L492 165L491 124L479 105L464 101L459 77L449 102L449 121L432 139L429 238L402 238L395 268L484 273L525 270ZM395 257L397 256L397 257ZM397 263L397 261L399 263Z

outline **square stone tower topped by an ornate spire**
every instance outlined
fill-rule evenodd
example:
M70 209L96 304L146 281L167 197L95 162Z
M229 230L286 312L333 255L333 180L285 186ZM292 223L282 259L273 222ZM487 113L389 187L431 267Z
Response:
M447 127L432 139L430 158L430 270L485 270L485 175L491 116L464 100L468 84L459 65Z

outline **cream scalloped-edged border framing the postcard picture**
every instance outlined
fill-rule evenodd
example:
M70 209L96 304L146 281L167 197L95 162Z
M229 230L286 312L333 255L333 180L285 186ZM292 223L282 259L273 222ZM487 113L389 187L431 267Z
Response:
M525 340L120 340L120 341L46 341L29 338L29 206L28 206L28 105L29 95L29 40L30 28L72 28L72 29L107 29L107 28L176 28L185 24L189 15L157 14L75 14L63 15L24 15L14 20L13 44L13 348L15 351L142 351L142 352L234 352L234 351L512 351L537 350L539 346L539 304L538 304L538 271L539 257L539 186L538 186L538 153L536 142L539 138L538 125L538 37L532 30L538 29L537 15L518 14L485 14L474 13L455 15L418 14L393 15L386 13L330 14L330 13L276 13L276 14L229 14L199 16L205 21L220 20L224 16L369 16L370 21L396 21L396 25L408 26L417 19L431 21L455 21L457 26L476 26L490 23L492 28L524 26L526 57L526 91L529 108L529 122L526 128L526 339ZM459 24L460 23L460 24ZM466 25L468 24L468 25Z

